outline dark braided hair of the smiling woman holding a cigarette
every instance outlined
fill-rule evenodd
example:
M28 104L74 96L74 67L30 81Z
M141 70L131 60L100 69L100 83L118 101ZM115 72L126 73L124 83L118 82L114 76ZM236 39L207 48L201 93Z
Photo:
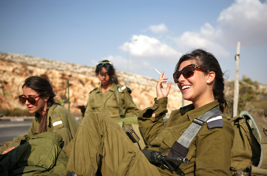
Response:
M225 99L224 91L224 73L221 71L220 64L215 56L209 52L206 52L204 49L195 49L191 53L187 53L181 56L178 61L175 71L178 71L182 62L186 60L194 60L196 65L202 66L207 69L205 73L209 73L211 71L215 72L215 79L213 83L213 94L215 100L218 100L221 112L224 111L225 107L228 107L227 101Z

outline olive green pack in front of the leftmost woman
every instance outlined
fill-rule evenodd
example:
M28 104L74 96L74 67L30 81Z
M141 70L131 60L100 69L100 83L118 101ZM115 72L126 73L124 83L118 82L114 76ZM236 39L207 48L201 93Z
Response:
M58 133L26 135L21 144L0 155L0 175L66 175L68 158Z

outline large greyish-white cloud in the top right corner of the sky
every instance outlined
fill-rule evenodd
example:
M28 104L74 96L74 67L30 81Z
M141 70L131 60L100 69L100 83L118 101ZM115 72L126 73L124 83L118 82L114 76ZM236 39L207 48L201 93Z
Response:
M242 46L259 46L267 38L267 1L236 0L224 9L217 21L221 30L219 38L225 44Z

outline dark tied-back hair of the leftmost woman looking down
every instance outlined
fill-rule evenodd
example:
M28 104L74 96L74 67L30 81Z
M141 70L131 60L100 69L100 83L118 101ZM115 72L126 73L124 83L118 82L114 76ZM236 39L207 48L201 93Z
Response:
M22 88L26 86L39 93L41 98L49 96L47 106L51 107L55 103L55 93L48 79L39 76L30 76L25 80ZM47 130L47 112L43 115L40 122L39 133Z

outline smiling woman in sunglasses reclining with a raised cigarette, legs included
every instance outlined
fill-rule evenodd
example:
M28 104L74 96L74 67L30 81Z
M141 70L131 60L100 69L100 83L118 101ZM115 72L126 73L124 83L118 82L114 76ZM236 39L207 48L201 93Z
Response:
M111 118L103 113L91 113L90 118L80 124L68 154L69 175L95 175L98 168L102 175L231 175L234 131L223 114L227 102L218 60L202 49L180 58L174 82L184 99L192 104L172 111L166 123L163 117L167 113L171 83L163 88L162 83L168 79L163 74L157 82L153 107L138 114L139 127L148 144L144 149L159 151L168 157L186 157L189 162L170 163L173 171L164 169L161 164L153 165ZM197 119L203 116L208 120ZM195 135L192 135L194 129L189 128L191 124L199 129ZM150 159L157 160L151 156Z

